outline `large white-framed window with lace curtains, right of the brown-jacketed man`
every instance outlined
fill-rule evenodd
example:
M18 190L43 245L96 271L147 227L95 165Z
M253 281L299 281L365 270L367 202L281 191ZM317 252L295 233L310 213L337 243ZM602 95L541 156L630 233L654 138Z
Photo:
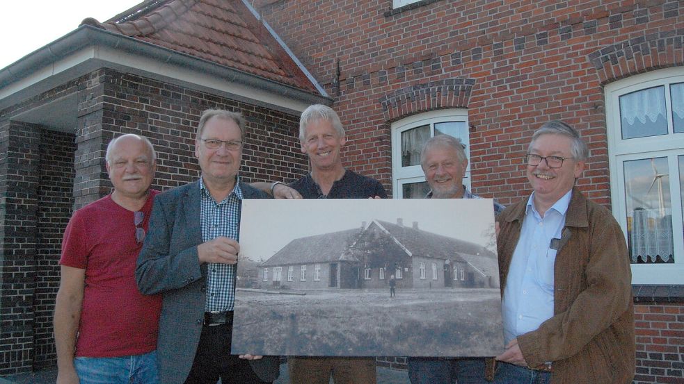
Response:
M605 87L612 212L635 284L684 283L684 68Z

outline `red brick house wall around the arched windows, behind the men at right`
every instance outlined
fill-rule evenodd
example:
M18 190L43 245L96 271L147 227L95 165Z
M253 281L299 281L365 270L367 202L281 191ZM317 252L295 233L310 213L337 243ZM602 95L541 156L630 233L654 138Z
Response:
M504 204L525 197L519 159L532 131L564 119L591 149L580 188L610 206L603 86L684 64L681 1L423 0L397 10L390 0L255 4L333 95L347 128L345 165L388 190L390 124L467 108L473 192ZM666 295L667 308L681 313L681 285L672 290L679 293ZM639 303L645 312L662 310L655 300ZM636 383L681 381L683 323L681 315L668 323L676 336L656 338L665 344L644 342L663 332L660 324L637 324Z

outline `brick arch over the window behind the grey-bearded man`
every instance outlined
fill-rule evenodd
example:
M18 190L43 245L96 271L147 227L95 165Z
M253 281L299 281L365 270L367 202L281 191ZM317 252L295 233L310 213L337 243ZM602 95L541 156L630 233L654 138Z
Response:
M380 99L385 121L443 108L467 108L472 78L447 78L401 88Z

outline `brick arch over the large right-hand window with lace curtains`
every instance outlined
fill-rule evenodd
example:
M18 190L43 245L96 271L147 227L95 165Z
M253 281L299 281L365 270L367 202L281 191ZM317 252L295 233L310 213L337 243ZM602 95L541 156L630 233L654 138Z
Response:
M684 65L684 33L644 33L598 49L589 54L589 60L603 84L653 69Z

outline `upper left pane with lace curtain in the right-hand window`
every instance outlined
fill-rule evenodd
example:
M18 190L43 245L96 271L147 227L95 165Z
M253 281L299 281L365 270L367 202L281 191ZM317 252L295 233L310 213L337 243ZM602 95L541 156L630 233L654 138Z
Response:
M667 135L665 87L653 87L620 97L622 138Z

